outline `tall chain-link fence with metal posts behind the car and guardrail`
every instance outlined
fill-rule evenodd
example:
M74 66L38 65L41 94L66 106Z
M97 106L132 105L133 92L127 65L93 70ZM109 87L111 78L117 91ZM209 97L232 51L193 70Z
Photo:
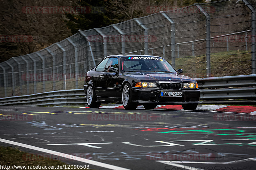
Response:
M222 0L79 31L0 63L0 98L82 88L88 69L117 54L162 56L193 78L255 74L255 8Z

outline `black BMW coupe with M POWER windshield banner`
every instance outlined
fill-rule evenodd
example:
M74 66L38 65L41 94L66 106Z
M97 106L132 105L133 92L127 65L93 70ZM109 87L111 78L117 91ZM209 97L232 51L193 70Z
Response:
M181 105L196 109L200 91L193 78L180 75L164 58L152 55L109 55L87 72L84 92L87 105L123 103L125 109L143 105Z

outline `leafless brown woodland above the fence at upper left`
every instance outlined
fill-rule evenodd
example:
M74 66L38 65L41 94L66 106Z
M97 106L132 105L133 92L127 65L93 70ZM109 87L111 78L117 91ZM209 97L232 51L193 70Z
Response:
M72 5L70 1L0 1L0 62L43 49L71 35L65 13L43 11Z

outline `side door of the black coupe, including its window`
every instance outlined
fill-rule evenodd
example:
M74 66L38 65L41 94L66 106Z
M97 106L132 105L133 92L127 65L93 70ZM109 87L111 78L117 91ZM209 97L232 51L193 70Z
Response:
M102 97L108 98L116 98L116 78L117 73L109 72L108 69L113 67L118 71L118 59L116 57L110 57L105 69L104 73L101 75L100 88Z

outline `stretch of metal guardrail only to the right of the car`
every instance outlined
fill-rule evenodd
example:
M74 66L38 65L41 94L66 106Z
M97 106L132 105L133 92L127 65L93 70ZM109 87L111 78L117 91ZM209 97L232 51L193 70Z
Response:
M256 104L256 74L196 78L201 103Z

